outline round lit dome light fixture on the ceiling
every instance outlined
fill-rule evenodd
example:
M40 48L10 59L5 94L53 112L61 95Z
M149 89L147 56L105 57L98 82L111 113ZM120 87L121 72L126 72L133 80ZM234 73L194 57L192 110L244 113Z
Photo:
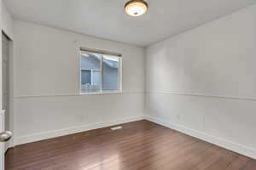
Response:
M125 11L131 16L140 16L148 10L148 3L143 0L131 0L125 3Z

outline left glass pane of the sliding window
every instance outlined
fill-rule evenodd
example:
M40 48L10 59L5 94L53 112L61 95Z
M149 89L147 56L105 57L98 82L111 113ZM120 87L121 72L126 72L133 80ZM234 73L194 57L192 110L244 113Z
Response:
M102 54L81 52L81 91L83 93L98 92L101 90Z

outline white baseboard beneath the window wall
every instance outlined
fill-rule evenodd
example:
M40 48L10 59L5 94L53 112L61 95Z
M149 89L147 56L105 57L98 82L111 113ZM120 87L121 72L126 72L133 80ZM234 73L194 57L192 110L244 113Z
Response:
M96 129L96 128L102 128L102 127L109 127L113 126L116 124L121 124L125 122L134 122L134 121L139 121L143 120L144 116L133 116L133 117L125 117L123 119L117 119L109 122L100 122L100 123L94 123L94 124L89 124L89 125L83 125L79 127L69 127L69 128L63 128L63 129L58 129L58 130L53 130L53 131L48 131L44 133L34 133L26 136L20 136L14 139L14 144L19 145L19 144L27 144L31 142L36 142L44 139L51 139L55 137L60 137L60 136L65 136L68 134L72 133L81 133L84 131Z

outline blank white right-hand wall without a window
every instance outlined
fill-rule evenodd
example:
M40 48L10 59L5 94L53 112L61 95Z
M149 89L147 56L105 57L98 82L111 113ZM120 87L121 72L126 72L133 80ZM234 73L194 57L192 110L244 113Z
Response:
M148 118L256 158L256 5L147 48Z

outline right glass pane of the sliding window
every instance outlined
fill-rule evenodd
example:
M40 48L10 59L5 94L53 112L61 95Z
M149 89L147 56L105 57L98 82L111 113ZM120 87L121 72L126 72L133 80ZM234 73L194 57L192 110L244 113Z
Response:
M120 58L102 55L102 90L119 90Z

